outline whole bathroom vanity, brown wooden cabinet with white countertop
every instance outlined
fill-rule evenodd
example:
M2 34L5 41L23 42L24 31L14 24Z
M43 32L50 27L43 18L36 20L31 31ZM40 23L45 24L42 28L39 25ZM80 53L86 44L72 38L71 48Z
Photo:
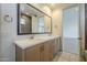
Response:
M15 41L17 62L51 62L59 53L59 36Z

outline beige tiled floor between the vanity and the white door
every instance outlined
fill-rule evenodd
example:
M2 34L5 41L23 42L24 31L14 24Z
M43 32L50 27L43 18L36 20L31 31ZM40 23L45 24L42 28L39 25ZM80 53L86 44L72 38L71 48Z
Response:
M79 62L79 55L72 53L62 53L53 59L54 62Z

